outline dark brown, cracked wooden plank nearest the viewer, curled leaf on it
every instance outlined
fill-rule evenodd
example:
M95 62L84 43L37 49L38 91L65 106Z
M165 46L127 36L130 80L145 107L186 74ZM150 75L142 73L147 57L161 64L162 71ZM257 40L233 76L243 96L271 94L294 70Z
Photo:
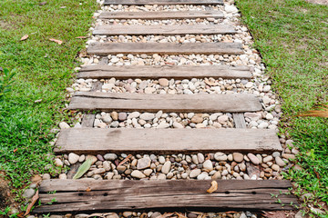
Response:
M290 181L217 180L218 189L207 193L210 183L209 180L45 180L39 188L43 205L33 212L293 210L298 204L297 198L288 194L292 188ZM55 203L46 204L54 198Z

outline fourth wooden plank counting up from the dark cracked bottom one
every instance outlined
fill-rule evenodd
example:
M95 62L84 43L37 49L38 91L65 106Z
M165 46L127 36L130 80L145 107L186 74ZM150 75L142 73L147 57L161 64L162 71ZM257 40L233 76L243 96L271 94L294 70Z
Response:
M90 79L192 79L192 78L245 78L251 79L250 67L227 65L87 65L83 66L77 78Z

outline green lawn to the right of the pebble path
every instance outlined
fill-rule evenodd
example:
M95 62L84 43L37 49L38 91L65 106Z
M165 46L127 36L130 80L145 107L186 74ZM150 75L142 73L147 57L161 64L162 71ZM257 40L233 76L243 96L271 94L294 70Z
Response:
M312 193L308 203L328 203L328 121L297 117L328 102L328 6L303 0L238 0L237 5L282 98L282 133L301 151L303 170L287 176L299 185L298 195Z

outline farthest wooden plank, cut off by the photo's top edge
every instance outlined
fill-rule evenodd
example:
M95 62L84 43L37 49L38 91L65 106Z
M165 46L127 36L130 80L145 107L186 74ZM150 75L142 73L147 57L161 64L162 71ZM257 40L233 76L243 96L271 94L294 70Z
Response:
M105 0L104 5L223 5L223 0Z

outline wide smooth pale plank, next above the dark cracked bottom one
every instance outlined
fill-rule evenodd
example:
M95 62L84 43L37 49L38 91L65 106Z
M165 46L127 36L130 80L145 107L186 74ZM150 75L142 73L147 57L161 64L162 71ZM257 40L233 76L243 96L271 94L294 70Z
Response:
M179 139L179 140L177 140ZM282 151L273 130L261 129L64 129L56 154L180 154Z

